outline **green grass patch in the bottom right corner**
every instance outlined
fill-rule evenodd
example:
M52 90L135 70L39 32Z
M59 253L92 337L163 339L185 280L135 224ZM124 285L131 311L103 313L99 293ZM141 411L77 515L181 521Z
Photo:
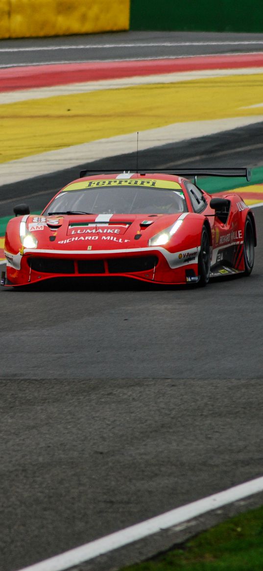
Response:
M178 549L125 568L125 571L262 570L263 507L200 533Z

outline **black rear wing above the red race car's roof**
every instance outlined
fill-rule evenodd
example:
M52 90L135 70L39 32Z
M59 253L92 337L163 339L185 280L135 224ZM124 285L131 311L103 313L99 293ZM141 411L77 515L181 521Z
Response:
M119 168L113 170L82 170L79 173L80 178L83 176L92 176L92 175L101 175L101 174L115 174L119 172ZM133 171L127 171L127 174L130 174ZM136 171L135 171L136 172ZM138 172L138 171L137 171ZM237 167L237 168L147 168L145 170L140 169L140 174L145 174L145 172L150 173L163 173L167 175L176 175L176 176L194 176L195 181L197 176L241 176L246 178L246 180L251 179L251 170L250 168L246 167ZM123 174L126 174L126 171L123 171Z

